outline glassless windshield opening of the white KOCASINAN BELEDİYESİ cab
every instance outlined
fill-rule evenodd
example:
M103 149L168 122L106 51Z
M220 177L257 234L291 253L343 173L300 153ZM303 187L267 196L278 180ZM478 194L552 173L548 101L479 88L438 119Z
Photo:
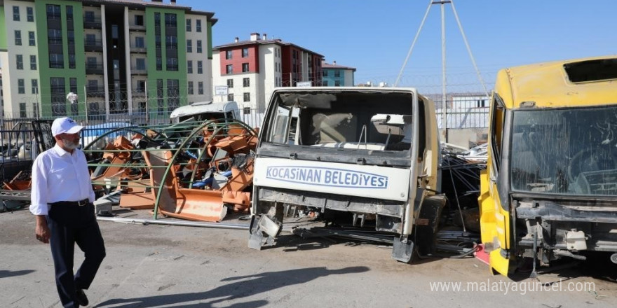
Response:
M408 151L412 98L391 92L280 94L266 141L332 151Z

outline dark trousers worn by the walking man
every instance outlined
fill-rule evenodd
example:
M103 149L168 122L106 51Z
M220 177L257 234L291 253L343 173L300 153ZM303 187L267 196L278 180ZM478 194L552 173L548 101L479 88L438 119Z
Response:
M93 204L53 205L49 210L47 225L51 237L49 244L55 268L55 283L62 305L79 307L75 290L90 287L94 276L105 257L105 246L94 214ZM83 251L85 260L73 274L75 243Z

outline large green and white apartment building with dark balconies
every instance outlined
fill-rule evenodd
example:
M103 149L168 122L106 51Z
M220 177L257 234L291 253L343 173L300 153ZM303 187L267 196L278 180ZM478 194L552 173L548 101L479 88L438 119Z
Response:
M7 118L109 120L212 99L214 13L175 0L0 4Z

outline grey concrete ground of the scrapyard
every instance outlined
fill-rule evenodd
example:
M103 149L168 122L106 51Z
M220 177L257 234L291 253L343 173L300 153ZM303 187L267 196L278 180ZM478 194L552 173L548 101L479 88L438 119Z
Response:
M90 307L617 307L617 268L604 259L538 283L494 276L474 258L407 265L374 244L283 235L255 251L245 230L99 225L107 258L86 291ZM53 277L34 217L0 213L0 307L61 307Z

